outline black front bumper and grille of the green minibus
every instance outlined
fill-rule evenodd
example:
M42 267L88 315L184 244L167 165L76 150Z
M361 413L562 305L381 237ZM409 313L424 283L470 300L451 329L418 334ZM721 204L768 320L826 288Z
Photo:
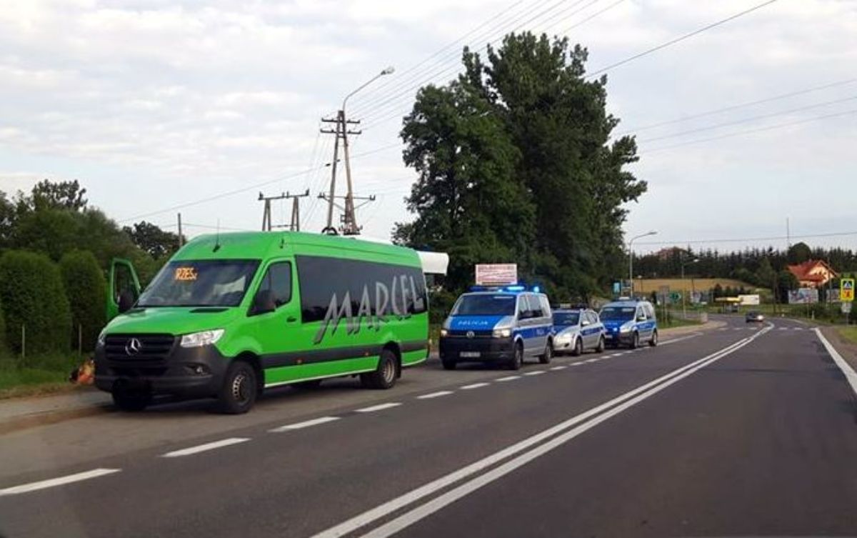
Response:
M106 392L131 389L189 398L215 396L229 358L213 345L183 348L180 338L169 338L109 335L95 350L95 386Z

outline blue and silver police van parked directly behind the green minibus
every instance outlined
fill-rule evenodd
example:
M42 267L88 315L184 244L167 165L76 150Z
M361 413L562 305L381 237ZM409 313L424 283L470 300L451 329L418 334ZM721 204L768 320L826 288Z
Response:
M458 297L440 329L440 361L447 370L459 362L517 370L528 357L547 364L553 356L550 304L537 287L476 288Z

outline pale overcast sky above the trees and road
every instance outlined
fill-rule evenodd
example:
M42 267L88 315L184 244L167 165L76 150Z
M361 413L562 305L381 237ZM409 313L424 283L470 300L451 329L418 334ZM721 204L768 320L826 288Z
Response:
M415 176L401 117L419 85L458 72L465 43L482 49L514 29L567 35L596 70L761 1L3 0L0 190L78 179L121 224L172 230L171 208L199 202L180 210L196 235L259 229L260 191L309 188L303 228L320 230L333 138L318 135L319 119L393 65L348 105L363 119L356 191L377 195L358 221L387 237L410 218L402 198ZM633 170L649 182L628 236L784 236L787 217L794 236L857 231L855 66L857 2L779 0L610 69L609 110L619 132L638 132ZM799 94L693 117L787 93ZM289 210L277 203L275 221ZM857 234L806 241L854 248Z

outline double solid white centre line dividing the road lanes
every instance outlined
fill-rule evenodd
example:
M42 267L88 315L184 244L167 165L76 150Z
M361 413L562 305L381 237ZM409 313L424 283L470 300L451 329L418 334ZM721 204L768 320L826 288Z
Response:
M562 421L559 424L554 425L553 427L548 427L548 429L543 430L540 433L536 433L535 435L530 436L527 439L523 439L518 443L507 446L506 448L494 452L488 457L484 457L481 460L478 460L474 463L470 463L470 465L465 466L462 469L458 469L453 471L448 475L441 476L440 478L428 482L421 487L417 487L417 489L411 490L404 495L401 495L395 499L391 499L382 505L378 505L375 508L370 509L369 511L365 511L362 514L358 514L355 517L351 517L351 519L346 520L343 523L339 523L331 527L330 529L323 530L320 533L313 536L313 538L336 538L339 536L347 535L351 532L354 532L357 529L361 529L368 525L369 523L373 523L381 518L388 517L395 511L399 511L405 506L411 505L417 502L420 499L423 499L429 495L432 495L441 489L445 489L446 487L451 486L452 484L464 480L464 478L469 477L470 475L475 475L476 473L482 471L483 469L487 469L493 466L495 463L499 463L508 457L515 456L519 452L524 452L529 449L533 445L538 445L539 443L544 442L546 439L550 439L548 442L545 442L542 445L536 446L535 449L524 452L524 454L510 460L509 462L501 465L490 471L490 473L486 473L485 475L477 476L476 479L472 479L469 482L464 483L464 485L456 487L436 497L432 501L430 501L426 505L422 505L417 507L412 511L406 512L404 515L397 517L390 521L389 523L375 529L373 533L370 533L369 536L388 536L392 535L397 530L404 529L408 525L412 523L416 523L419 519L428 516L434 511L440 510L443 506L446 506L454 500L459 499L460 497L466 495L474 491L474 489L478 487L482 487L490 481L497 480L502 475L506 475L506 473L511 472L512 469L516 469L524 463L528 463L531 459L534 459L538 456L541 456L543 453L552 450L558 445L565 443L567 440L576 437L580 433L583 433L586 429L590 427L596 426L601 421L607 420L610 416L620 413L622 410L631 407L633 404L638 403L639 401L644 400L645 398L650 398L656 392L659 392L666 388L669 385L672 385L674 382L677 382L680 379L683 379L687 375L695 373L698 369L704 368L708 366L711 362L715 362L721 359L724 356L728 356L736 350L744 347L746 344L750 344L757 336L761 336L764 332L759 332L758 335L754 335L752 337L743 338L734 344L723 348L722 350L716 351L709 356L704 356L698 361L692 362L690 364L686 364L681 368L677 368L668 374L664 374L656 380L651 380L649 383L646 383L642 386L638 386L635 389L632 389L629 392L621 394L608 402L602 403L592 409L584 411L583 413L572 416L572 418ZM618 405L617 404L622 404ZM615 406L615 407L614 407ZM612 409L611 409L612 408ZM608 410L607 413L604 411ZM591 418L596 417L595 420L591 420ZM583 424L581 424L583 422ZM580 424L580 426L577 426ZM575 427L573 429L569 429ZM585 429L582 429L585 428ZM554 437L557 433L566 432L562 435ZM551 438L554 439L551 439ZM498 474L499 472L499 474Z

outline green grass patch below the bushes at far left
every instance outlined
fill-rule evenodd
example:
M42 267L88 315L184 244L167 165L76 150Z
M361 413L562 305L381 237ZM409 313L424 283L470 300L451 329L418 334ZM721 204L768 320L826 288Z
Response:
M0 398L32 396L72 388L72 368L80 364L75 353L29 356L25 360L0 356Z

